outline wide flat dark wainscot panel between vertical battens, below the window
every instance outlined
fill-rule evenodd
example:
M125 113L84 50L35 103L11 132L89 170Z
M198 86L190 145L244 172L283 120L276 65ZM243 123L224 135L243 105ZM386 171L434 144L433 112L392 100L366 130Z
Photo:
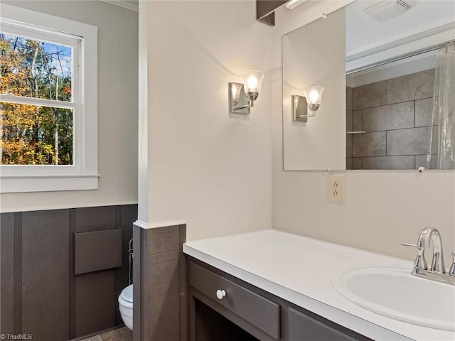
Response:
M35 340L69 335L69 210L22 213L22 331Z

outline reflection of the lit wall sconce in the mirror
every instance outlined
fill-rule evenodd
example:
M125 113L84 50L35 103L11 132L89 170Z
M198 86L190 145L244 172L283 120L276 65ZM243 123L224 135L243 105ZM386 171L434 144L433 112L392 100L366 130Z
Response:
M306 122L308 117L316 116L316 111L321 106L321 98L324 87L308 87L304 90L304 96L293 94L292 119L294 121ZM311 114L308 114L310 109Z

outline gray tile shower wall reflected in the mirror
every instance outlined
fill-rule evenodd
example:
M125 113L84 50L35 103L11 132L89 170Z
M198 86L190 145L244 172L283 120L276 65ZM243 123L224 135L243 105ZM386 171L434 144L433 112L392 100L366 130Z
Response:
M366 133L346 135L346 168L426 167L433 87L434 69L348 87L346 131Z

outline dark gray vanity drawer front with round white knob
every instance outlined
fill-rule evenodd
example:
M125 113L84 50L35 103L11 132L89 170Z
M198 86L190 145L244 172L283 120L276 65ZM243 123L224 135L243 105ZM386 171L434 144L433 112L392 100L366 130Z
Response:
M248 323L279 340L279 305L214 272L188 262L188 284ZM226 296L217 298L217 291Z

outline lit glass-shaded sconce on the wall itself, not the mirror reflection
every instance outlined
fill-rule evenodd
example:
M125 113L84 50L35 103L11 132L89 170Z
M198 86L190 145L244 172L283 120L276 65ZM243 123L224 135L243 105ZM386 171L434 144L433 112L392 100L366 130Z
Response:
M229 111L233 114L250 114L259 96L264 72L250 70L242 73L242 83L229 83Z

